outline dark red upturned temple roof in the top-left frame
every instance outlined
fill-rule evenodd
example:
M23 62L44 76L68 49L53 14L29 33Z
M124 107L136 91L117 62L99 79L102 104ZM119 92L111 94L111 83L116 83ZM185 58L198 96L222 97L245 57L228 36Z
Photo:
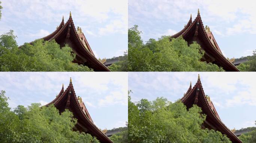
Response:
M78 58L78 60L73 61L74 63L84 64L89 68L94 69L94 71L110 71L95 57L85 35L82 33L82 29L78 27L76 31L71 12L66 23L64 23L63 17L60 25L57 26L57 29L41 39L44 39L45 41L55 39L61 46L68 44Z

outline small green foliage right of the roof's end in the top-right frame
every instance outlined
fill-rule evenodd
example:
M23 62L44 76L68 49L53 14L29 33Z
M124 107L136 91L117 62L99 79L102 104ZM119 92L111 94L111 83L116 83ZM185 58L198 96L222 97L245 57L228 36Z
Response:
M256 71L256 50L253 51L253 55L248 58L248 61L241 63L237 68L240 71Z

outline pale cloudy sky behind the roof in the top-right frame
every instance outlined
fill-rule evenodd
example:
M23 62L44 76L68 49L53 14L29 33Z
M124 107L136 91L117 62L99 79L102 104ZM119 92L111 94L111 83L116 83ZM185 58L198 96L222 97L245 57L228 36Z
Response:
M128 5L128 28L138 25L144 42L176 34L199 9L225 57L252 55L256 49L256 1L129 0Z

